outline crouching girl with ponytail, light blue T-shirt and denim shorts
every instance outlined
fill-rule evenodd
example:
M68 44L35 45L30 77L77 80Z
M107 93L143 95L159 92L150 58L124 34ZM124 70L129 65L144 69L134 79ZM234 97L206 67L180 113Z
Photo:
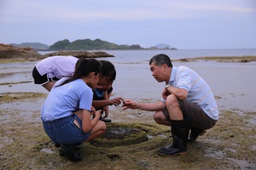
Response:
M71 161L82 159L75 145L106 132L105 122L99 121L101 111L91 107L92 88L99 82L101 69L96 59L79 59L73 75L55 83L41 111L45 133L55 144L61 144L61 155Z

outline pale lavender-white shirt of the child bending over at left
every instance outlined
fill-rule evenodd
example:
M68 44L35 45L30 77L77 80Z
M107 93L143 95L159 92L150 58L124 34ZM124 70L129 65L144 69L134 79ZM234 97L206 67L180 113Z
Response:
M73 56L52 56L39 61L36 68L41 76L48 74L49 78L70 77L78 60Z

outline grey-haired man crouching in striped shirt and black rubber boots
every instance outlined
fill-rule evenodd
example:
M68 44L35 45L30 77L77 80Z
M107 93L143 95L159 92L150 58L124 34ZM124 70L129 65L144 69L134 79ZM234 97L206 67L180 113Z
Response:
M171 126L173 139L172 144L161 147L157 153L161 156L186 154L187 141L195 141L218 121L218 106L212 90L195 71L186 66L172 66L166 54L155 55L149 65L155 80L166 82L161 101L143 104L128 99L124 109L156 111L154 121Z

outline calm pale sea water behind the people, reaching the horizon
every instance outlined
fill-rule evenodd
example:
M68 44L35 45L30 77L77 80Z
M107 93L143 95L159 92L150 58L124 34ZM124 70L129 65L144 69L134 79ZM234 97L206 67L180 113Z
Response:
M113 82L113 96L124 99L160 99L165 82L156 82L149 70L148 61L155 54L167 54L171 59L205 56L245 56L255 55L256 49L204 49L204 50L106 50L113 58L116 80ZM47 54L51 52L39 52ZM38 61L37 61L38 62ZM40 85L33 84L32 68L37 63L0 64L1 93L34 92L48 93ZM185 65L196 71L209 84L218 99L219 107L256 111L254 95L256 89L256 62L221 63L217 61L178 62L174 66ZM22 82L22 83L19 83Z

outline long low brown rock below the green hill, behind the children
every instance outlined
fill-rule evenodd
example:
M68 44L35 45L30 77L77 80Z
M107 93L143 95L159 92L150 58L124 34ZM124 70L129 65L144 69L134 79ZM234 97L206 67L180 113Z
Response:
M114 57L112 54L108 54L103 51L97 51L97 52L87 52L87 51L80 51L80 50L64 50L64 51L58 51L55 53L50 54L44 54L44 57L50 57L50 56L56 56L56 55L62 55L62 56L68 56L72 55L77 58L105 58L105 57Z

